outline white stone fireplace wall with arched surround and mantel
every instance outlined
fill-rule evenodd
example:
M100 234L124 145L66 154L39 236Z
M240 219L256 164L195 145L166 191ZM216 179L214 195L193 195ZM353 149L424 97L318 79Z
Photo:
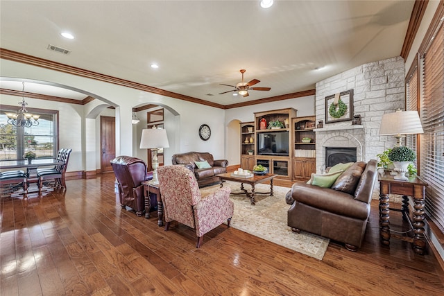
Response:
M379 136L382 115L404 109L405 66L401 57L370 62L316 83L316 121L324 121L316 131L316 171L325 162L325 150L356 149L356 161L368 162L386 148L395 146L391 136ZM326 97L353 89L353 115L361 115L361 125L352 121L326 123Z

